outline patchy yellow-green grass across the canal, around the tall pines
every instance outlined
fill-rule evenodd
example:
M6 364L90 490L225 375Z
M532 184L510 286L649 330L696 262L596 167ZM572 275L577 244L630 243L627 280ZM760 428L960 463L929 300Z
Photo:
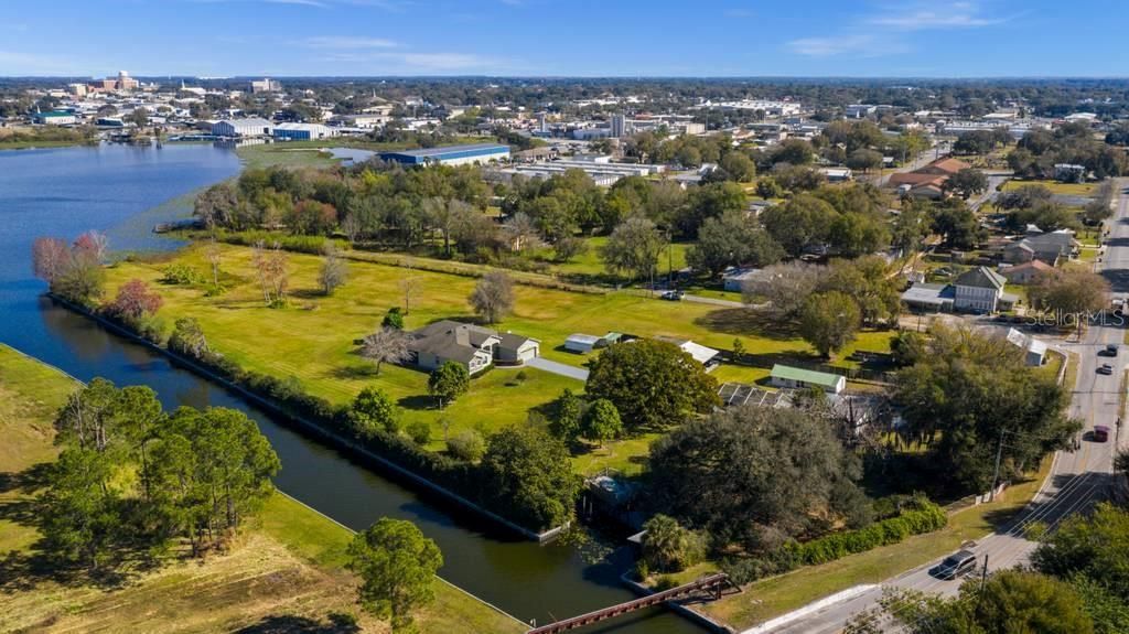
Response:
M62 373L0 345L5 483L54 459L51 421L76 387ZM12 511L26 495L6 491L0 507ZM0 556L34 553L34 528L9 519L0 522ZM387 632L385 624L357 609L357 581L342 567L350 539L348 529L277 494L227 553L203 560L174 557L158 570L126 570L124 580L112 587L6 574L0 631ZM436 581L436 602L418 617L422 632L525 629L443 581Z

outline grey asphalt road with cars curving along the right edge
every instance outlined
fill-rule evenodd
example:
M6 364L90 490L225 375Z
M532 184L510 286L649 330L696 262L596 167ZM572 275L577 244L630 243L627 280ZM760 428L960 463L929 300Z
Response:
M1101 273L1110 281L1113 294L1129 297L1129 193L1124 192L1129 179L1118 184L1120 196L1113 219L1108 222L1110 238L1100 265ZM981 563L988 557L988 569L1012 567L1027 561L1035 544L1023 538L1023 528L1033 521L1056 527L1071 513L1085 511L1110 491L1114 483L1112 475L1113 456L1117 447L1129 444L1129 434L1121 433L1115 425L1119 412L1121 376L1129 362L1129 349L1122 346L1117 358L1099 356L1097 351L1105 344L1121 344L1126 326L1115 317L1105 323L1092 324L1083 341L1064 343L1060 347L1078 354L1078 380L1070 400L1070 414L1084 422L1082 448L1077 451L1060 451L1054 457L1051 475L1032 500L1029 508L1013 522L996 534L978 540L972 548ZM1111 376L1099 375L1102 363L1111 363ZM1105 424L1117 433L1109 442L1091 440L1089 432L1095 424ZM929 569L938 562L909 571L883 585L910 588L940 595L954 595L960 581L943 581L929 574ZM867 591L854 599L829 606L804 618L772 629L778 634L834 634L840 632L852 615L872 608L881 598L881 589ZM895 629L894 624L889 624Z

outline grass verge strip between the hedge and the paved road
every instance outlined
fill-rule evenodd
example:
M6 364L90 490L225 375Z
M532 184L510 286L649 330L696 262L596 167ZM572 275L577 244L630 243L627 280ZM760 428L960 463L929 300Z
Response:
M834 562L807 566L745 587L745 592L694 609L737 629L803 607L828 595L860 583L878 583L901 572L925 565L979 539L1005 525L1035 495L1050 473L1051 459L1025 482L1007 488L995 502L970 507L948 518L948 526L891 546L850 555ZM693 579L712 569L709 564L683 571L677 579Z

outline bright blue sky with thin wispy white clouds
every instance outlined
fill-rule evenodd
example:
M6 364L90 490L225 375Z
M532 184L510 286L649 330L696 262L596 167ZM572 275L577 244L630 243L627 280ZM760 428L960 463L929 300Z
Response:
M0 0L0 76L1129 76L1121 0Z

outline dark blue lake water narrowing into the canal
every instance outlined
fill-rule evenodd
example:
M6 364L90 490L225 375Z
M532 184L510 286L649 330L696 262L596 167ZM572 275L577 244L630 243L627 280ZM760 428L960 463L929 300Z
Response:
M234 153L209 146L0 151L0 342L82 380L100 376L117 385L148 385L166 407L247 412L282 460L279 488L355 529L380 517L413 521L443 549L445 579L524 620L544 624L632 598L618 581L630 565L625 551L606 554L511 538L352 464L222 388L40 297L44 285L32 278L29 265L36 237L70 239L99 229L110 234L113 248L168 248L149 228L183 217L187 194L238 169ZM586 632L701 631L653 610Z

